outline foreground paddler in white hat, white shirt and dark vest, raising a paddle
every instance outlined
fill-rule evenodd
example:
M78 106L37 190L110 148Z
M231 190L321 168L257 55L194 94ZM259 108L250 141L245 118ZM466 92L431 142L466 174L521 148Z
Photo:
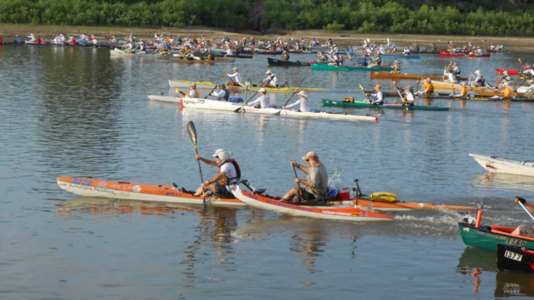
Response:
M197 160L201 160L207 165L219 167L217 176L204 181L197 190L195 190L194 196L202 195L204 191L211 191L214 194L231 195L232 188L238 183L241 178L241 170L237 162L230 158L232 152L225 149L217 149L213 154L215 160L209 160L202 156L196 156Z

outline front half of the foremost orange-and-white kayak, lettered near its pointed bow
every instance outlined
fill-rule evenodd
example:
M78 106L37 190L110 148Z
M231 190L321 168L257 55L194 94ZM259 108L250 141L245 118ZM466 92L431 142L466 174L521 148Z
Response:
M190 192L174 188L172 185L104 181L82 177L59 177L57 181L59 187L63 190L83 197L200 205L204 201L202 196L193 196ZM245 203L233 197L221 198L216 195L210 195L206 198L206 201L214 206L246 206Z

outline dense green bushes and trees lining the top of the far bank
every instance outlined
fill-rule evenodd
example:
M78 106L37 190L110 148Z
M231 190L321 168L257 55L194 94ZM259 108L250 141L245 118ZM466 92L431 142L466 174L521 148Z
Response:
M486 9L476 6L481 3ZM533 4L534 0L0 0L0 23L534 36Z

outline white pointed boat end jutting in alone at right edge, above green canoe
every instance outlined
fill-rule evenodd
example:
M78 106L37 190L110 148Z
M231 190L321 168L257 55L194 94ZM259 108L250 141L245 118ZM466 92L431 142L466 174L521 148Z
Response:
M478 164L489 172L534 176L534 161L519 161L498 156L482 156L469 153Z

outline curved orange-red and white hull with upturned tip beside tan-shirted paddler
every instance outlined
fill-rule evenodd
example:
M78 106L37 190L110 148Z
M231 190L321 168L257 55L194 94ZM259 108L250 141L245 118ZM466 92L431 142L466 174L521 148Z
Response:
M388 221L393 219L388 215L373 213L368 210L362 210L354 207L298 206L258 194L245 192L241 190L239 186L234 188L232 192L237 199L247 203L252 207L261 208L264 210L272 210L276 213L283 213L296 217L312 217L318 219L335 219L355 222Z

